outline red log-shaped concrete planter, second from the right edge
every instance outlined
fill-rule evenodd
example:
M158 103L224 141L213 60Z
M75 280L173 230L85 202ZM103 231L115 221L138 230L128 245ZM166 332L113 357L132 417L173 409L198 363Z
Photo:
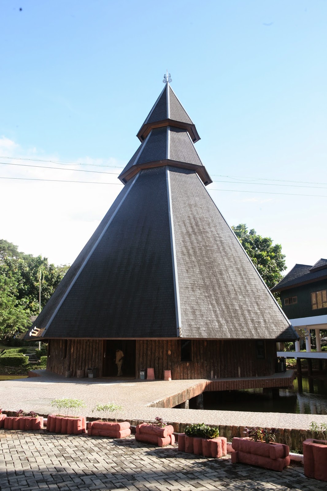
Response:
M283 443L261 443L248 438L236 438L232 440L232 464L243 462L244 464L257 465L266 469L281 472L291 459L290 449Z

